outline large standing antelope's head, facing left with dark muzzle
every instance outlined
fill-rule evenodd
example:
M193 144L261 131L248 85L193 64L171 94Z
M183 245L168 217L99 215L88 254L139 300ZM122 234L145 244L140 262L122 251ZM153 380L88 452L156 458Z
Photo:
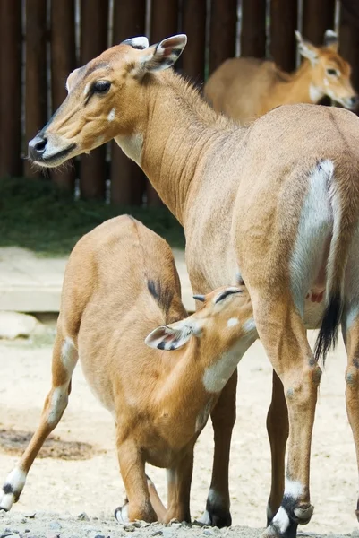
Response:
M147 38L127 39L75 69L63 104L29 143L30 160L56 167L119 137L124 152L128 148L129 157L139 161L136 127L149 113L143 105L150 81L175 64L186 42L184 34L151 47Z

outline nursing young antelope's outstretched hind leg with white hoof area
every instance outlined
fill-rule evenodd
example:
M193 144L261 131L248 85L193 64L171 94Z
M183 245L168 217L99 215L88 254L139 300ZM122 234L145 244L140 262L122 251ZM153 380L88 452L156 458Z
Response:
M71 391L71 377L78 360L78 354L69 338L61 334L56 336L52 362L52 388L45 400L38 430L30 440L19 464L8 474L3 495L0 497L0 509L10 510L13 503L19 500L26 482L26 476L45 439L56 428L67 406Z

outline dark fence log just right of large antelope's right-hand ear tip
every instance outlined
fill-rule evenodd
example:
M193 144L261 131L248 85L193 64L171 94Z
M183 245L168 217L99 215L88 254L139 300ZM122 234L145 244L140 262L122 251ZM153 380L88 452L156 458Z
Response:
M194 82L204 81L206 46L206 0L183 0L183 31L188 43L184 48L182 67Z

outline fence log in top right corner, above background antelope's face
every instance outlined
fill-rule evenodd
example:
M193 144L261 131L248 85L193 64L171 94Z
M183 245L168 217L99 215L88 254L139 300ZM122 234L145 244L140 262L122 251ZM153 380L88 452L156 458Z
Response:
M346 0L340 6L340 54L352 66L352 83L359 93L359 6Z

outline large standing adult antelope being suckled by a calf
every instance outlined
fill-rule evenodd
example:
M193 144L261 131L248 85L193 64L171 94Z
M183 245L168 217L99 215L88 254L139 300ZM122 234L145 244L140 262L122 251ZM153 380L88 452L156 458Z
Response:
M184 35L151 47L146 38L129 39L74 71L63 105L30 141L30 159L54 167L115 138L183 223L193 291L235 284L241 275L276 372L265 535L294 536L312 516L318 359L335 341L340 320L347 410L359 447L359 119L342 108L294 105L237 126L166 70L185 43ZM314 357L305 329L317 326ZM235 386L236 372L211 413L215 453L205 520L218 526L231 523Z

